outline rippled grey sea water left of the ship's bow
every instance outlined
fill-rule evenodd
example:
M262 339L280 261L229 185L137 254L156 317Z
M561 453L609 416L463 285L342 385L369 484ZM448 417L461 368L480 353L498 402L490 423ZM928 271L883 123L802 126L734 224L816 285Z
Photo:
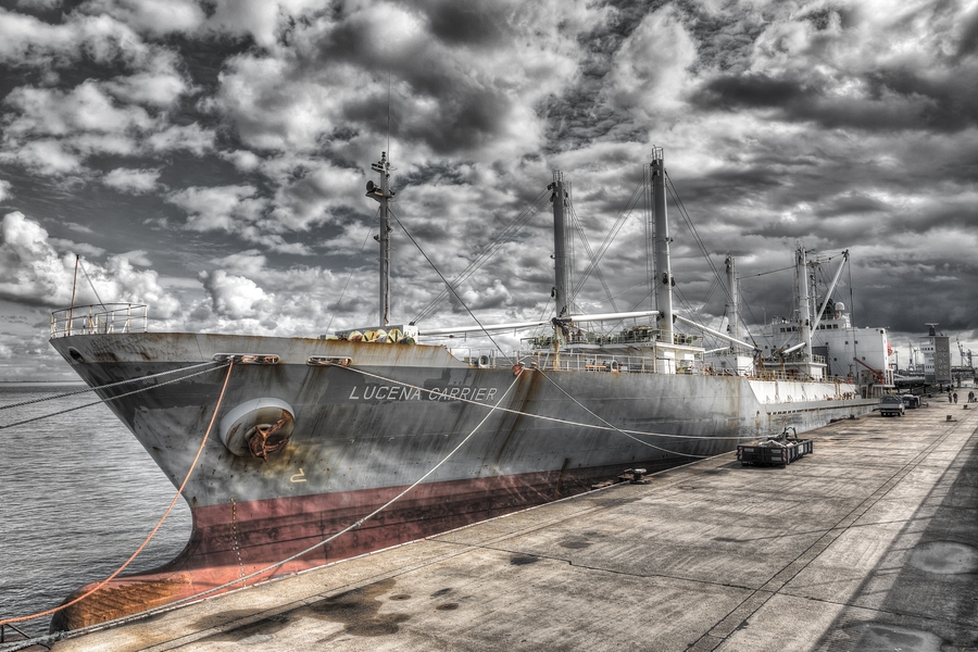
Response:
M0 384L0 406L83 389ZM97 401L93 393L0 410L0 425ZM149 535L176 493L139 442L104 405L0 430L0 619L60 604L104 579ZM190 536L183 498L126 569L175 557ZM17 626L48 630L50 616Z

